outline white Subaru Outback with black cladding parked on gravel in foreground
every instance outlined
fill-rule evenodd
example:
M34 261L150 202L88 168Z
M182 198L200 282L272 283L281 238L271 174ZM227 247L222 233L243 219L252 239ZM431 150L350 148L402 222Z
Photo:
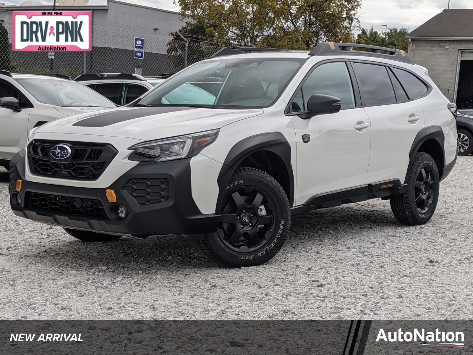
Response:
M400 50L224 48L128 107L36 129L12 159L11 208L84 241L196 234L219 262L258 265L291 214L382 198L428 222L455 108Z

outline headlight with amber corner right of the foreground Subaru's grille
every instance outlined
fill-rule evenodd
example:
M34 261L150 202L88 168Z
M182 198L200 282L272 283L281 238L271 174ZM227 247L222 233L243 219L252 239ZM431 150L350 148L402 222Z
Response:
M134 151L128 159L158 162L193 157L212 144L218 135L219 130L217 129L136 144L128 148Z

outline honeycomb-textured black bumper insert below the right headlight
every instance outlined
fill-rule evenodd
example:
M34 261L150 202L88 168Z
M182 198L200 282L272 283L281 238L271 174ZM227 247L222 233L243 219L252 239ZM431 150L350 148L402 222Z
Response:
M140 205L159 204L169 198L169 181L165 177L130 179L123 190Z

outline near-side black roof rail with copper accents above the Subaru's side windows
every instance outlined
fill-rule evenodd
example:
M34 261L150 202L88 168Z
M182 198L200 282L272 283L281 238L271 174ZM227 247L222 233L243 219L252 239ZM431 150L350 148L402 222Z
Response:
M353 51L351 48L364 48L369 49L370 51ZM409 56L409 54L400 49L357 43L321 42L317 44L312 51L310 51L309 55L342 54L345 52L350 52L350 54L356 55L384 56L390 57L389 59L394 59L400 62L413 63L412 58Z

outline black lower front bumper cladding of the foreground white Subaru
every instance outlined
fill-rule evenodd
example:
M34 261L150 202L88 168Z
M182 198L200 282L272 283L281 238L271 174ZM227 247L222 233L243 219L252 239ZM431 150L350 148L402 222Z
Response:
M202 214L192 198L190 160L141 162L118 177L116 203L108 202L105 188L50 185L25 179L25 156L10 161L10 205L21 217L63 227L146 237L164 234L213 232L219 216ZM22 180L20 191L16 181ZM21 203L15 205L16 195ZM120 220L113 207L126 208Z

